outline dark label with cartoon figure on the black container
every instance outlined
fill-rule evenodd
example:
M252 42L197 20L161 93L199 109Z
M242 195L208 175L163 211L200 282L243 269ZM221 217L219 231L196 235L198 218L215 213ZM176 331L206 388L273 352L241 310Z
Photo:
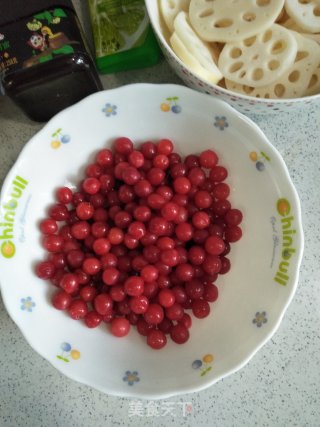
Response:
M0 28L0 73L84 50L74 13L61 8L45 10Z

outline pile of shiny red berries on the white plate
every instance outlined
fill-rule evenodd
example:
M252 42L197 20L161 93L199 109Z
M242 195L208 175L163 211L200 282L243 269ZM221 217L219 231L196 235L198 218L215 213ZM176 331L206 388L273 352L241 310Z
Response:
M242 213L228 200L227 169L212 150L188 155L169 139L129 138L102 149L78 191L58 188L40 223L49 252L36 274L58 290L52 304L89 328L130 325L160 349L182 344L192 318L210 313L215 281L230 269L230 243L242 236Z

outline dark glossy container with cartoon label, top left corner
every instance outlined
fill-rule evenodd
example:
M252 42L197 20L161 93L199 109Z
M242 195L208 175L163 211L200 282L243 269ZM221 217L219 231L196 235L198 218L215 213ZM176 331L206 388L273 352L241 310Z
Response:
M0 85L32 120L102 89L70 0L0 0Z

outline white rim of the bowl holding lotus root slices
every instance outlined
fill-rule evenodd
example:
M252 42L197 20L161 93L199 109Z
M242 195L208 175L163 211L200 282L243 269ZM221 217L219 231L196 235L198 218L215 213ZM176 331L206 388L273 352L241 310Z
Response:
M199 81L204 82L208 87L220 91L221 93L223 93L224 95L228 96L228 97L236 97L239 98L239 100L244 99L248 102L255 102L256 104L269 104L269 103L275 103L275 104L279 104L279 105L285 105L285 104L294 104L294 103L303 103L303 104L308 104L308 103L312 103L315 100L320 99L320 93L316 93L314 95L308 95L308 96L304 96L304 97L299 97L299 98L282 98L282 99L278 99L278 98L256 98L254 96L250 96L250 95L246 95L246 94L242 94L239 92L232 92L229 89L226 89L222 86L219 85L214 85L213 83L210 83L204 79L202 79L202 77L198 76L197 74L195 74L192 70L190 70L185 63L176 55L176 53L173 51L173 49L171 48L171 46L169 45L169 43L167 42L166 38L164 37L162 31L160 31L160 25L158 25L158 22L156 21L156 15L153 13L153 10L157 10L158 11L158 16L160 17L160 9L159 9L159 0L145 0L145 4L146 4L146 8L148 11L148 15L149 15L149 19L152 25L152 28L156 34L156 36L160 39L161 44L164 46L164 48L168 51L168 53L173 56L173 58L175 59L175 61L177 61L179 63L179 65L181 66L181 68L184 68L185 70L187 70L190 74L192 74L195 78L197 78ZM158 28L159 27L159 28Z

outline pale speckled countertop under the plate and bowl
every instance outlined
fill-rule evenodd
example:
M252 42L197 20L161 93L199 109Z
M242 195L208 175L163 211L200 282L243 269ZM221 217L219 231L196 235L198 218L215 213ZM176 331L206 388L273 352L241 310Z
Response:
M148 69L103 76L102 82L106 89L137 82L182 84L164 60ZM273 338L244 368L205 391L139 403L64 377L33 351L0 298L1 427L320 426L320 111L251 118L287 164L305 233L297 292ZM42 126L0 98L0 185ZM192 407L183 417L187 402Z

